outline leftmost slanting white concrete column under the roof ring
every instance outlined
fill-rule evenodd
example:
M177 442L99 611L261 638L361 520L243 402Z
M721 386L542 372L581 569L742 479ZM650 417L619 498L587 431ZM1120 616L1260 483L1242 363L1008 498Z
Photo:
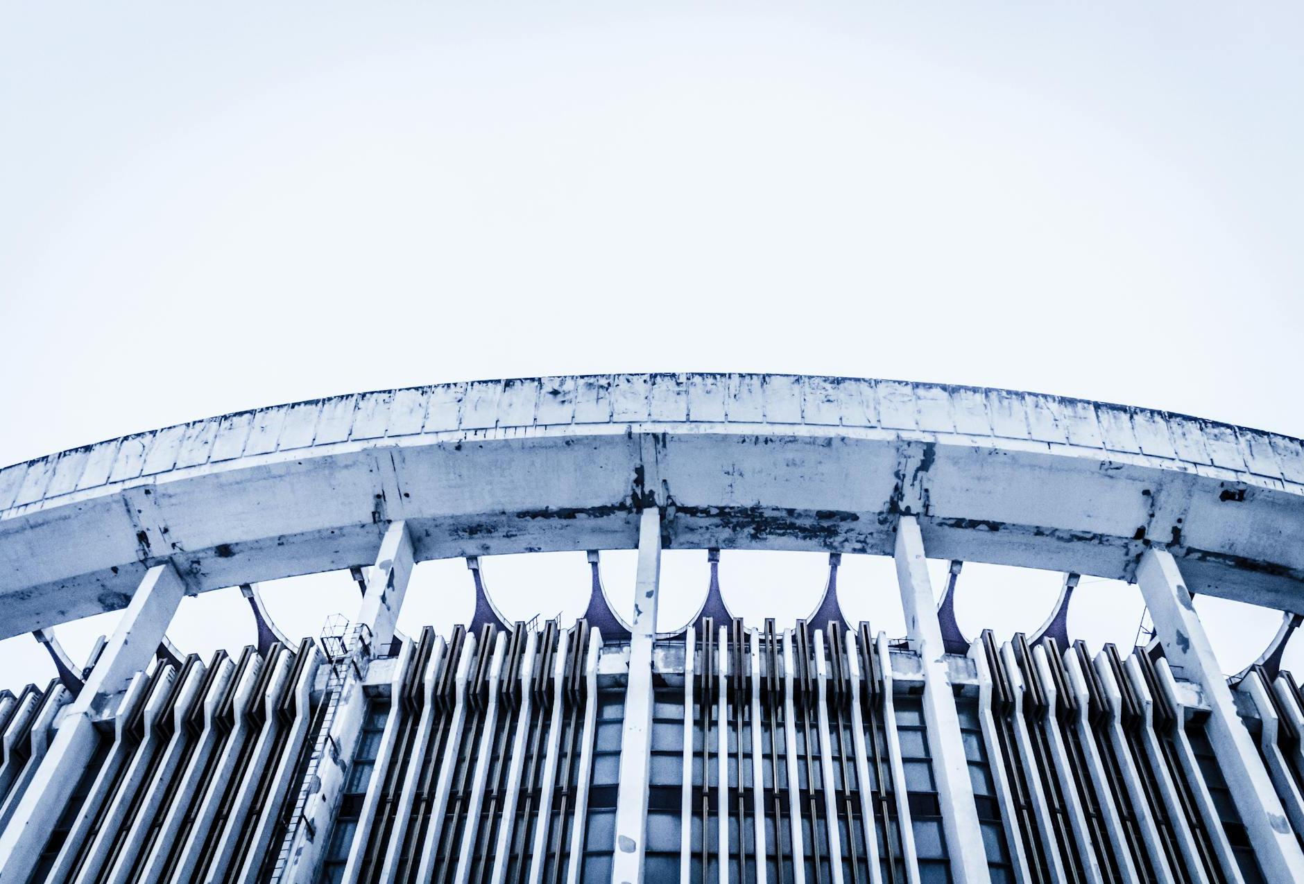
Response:
M184 595L185 584L171 563L155 565L145 572L81 695L69 705L9 825L0 834L0 862L4 863L0 881L22 883L31 875L46 838L95 751L94 716L150 664Z

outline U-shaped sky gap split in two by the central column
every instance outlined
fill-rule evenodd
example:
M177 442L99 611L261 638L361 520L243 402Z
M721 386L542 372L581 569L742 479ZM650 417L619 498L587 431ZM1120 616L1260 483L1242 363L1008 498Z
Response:
M626 623L634 618L636 549L604 549L599 558L602 585L612 609ZM702 608L711 585L711 565L704 549L661 550L661 583L657 597L657 632L682 631Z

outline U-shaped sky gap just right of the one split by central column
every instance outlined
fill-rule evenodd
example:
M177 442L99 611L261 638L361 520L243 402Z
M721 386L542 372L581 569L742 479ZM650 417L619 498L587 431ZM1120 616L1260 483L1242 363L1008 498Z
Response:
M771 617L780 630L810 619L824 597L828 574L828 553L720 550L720 595L729 613L748 628L763 628Z

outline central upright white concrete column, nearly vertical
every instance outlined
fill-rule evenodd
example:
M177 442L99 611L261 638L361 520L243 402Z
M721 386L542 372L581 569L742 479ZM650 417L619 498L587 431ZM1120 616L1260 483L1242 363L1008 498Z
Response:
M621 735L621 785L615 798L615 853L612 880L639 884L647 853L648 767L652 742L652 643L661 579L661 511L639 516L639 571L634 584L634 623L630 627L630 681L625 692ZM592 701L592 700L589 700Z

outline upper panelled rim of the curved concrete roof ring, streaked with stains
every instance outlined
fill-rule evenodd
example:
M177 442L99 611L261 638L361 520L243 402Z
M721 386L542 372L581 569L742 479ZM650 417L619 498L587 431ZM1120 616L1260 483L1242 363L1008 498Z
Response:
M544 386L557 394L549 398ZM858 387L859 403L844 394L829 396L831 390L848 387ZM592 399L582 403L584 394ZM1072 445L1231 471L1249 481L1266 479L1304 493L1304 442L1210 419L994 387L795 374L652 373L377 390L175 424L0 469L0 515L116 481L346 441L661 421L842 425Z

